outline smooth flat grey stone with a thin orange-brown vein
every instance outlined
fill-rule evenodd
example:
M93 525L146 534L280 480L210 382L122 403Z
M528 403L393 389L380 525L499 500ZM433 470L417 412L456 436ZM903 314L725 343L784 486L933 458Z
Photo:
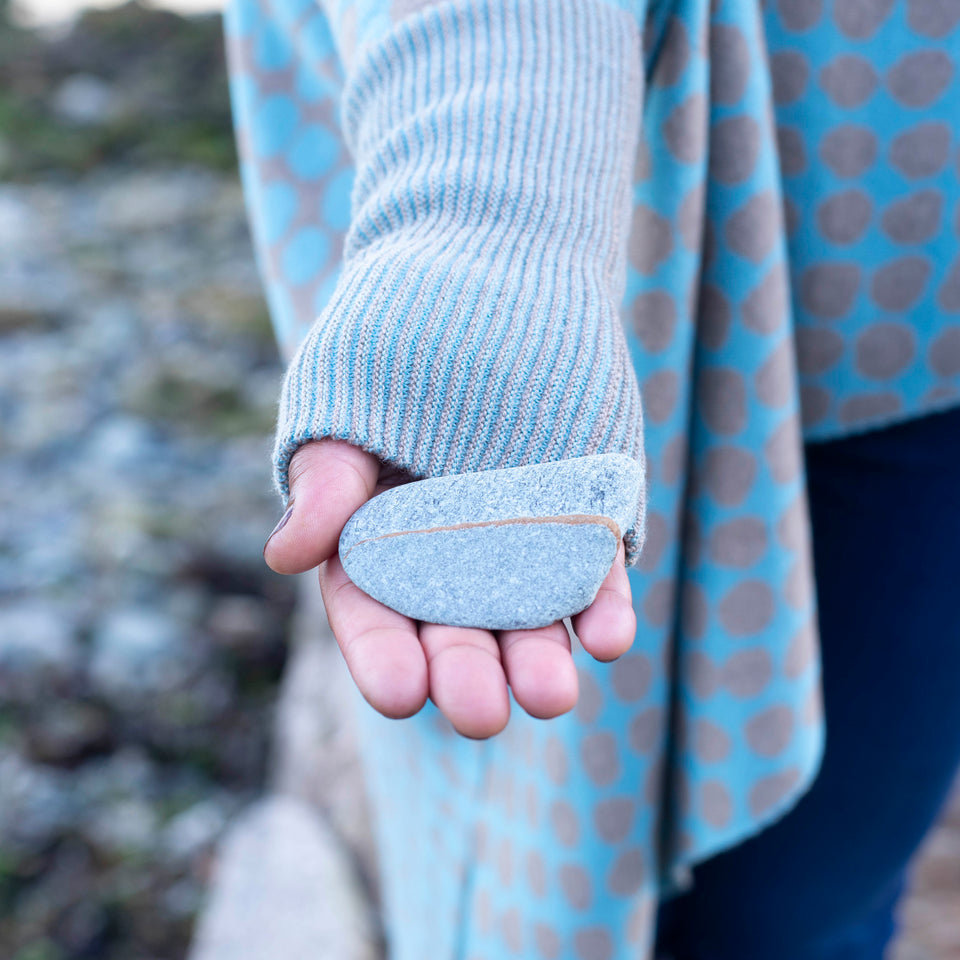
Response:
M414 620L543 627L593 602L642 485L623 454L418 480L354 513L340 560L361 590Z

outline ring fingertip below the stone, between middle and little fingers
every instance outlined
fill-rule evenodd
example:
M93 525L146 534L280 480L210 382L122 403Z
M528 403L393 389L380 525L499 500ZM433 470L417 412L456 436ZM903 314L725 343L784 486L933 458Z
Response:
M502 630L499 636L510 689L527 713L546 720L576 706L577 671L561 622L536 630Z

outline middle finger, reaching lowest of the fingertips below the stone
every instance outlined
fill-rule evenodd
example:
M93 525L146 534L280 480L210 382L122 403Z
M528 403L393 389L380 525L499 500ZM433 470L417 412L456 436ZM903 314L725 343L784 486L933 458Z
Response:
M420 624L430 673L430 699L465 737L482 740L510 719L500 648L489 630Z

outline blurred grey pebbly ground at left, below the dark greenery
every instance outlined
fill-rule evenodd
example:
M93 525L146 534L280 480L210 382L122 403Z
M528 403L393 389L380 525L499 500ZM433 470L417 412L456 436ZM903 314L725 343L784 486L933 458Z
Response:
M0 956L174 960L263 788L293 585L235 175L0 185Z

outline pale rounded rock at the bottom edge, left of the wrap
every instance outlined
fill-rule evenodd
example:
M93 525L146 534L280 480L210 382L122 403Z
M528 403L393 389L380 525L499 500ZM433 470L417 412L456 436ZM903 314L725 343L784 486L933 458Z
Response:
M190 960L376 960L377 941L336 835L302 803L273 797L228 833Z

